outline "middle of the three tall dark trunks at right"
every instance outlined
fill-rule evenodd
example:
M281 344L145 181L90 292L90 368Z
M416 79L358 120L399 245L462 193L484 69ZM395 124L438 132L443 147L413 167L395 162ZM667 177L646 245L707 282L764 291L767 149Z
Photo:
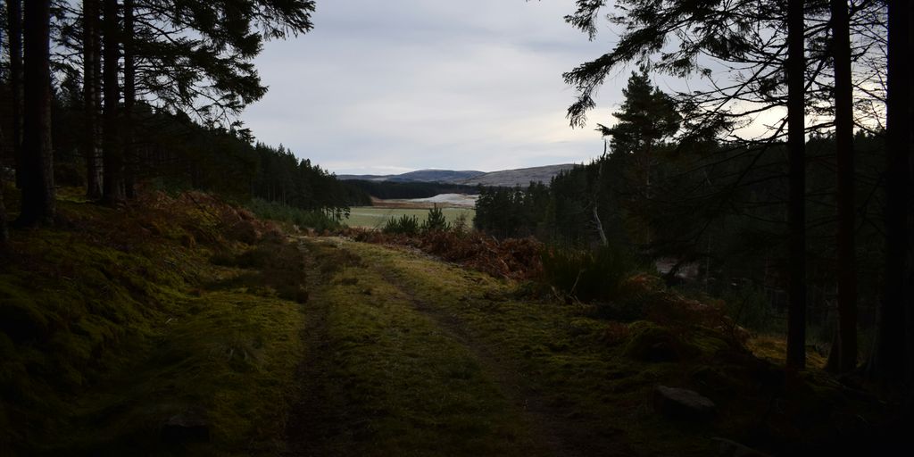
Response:
M856 258L854 243L854 108L851 80L850 18L847 0L831 0L834 56L834 140L837 158L838 339L835 365L840 373L856 368ZM832 357L829 357L832 361Z

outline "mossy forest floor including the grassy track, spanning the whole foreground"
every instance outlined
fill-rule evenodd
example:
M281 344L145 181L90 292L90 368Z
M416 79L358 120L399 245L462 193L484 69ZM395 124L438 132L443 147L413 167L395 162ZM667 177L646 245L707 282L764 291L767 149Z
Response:
M3 455L786 455L873 451L897 423L675 293L616 322L205 195L58 207L57 227L0 252ZM670 417L658 386L715 412Z

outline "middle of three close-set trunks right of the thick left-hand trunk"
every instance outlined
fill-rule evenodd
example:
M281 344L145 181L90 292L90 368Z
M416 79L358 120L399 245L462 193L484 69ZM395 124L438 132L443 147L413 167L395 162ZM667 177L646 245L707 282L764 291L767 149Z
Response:
M120 28L118 27L117 0L104 0L102 5L104 33L104 66L102 67L102 84L104 86L104 125L102 134L102 159L104 168L104 186L102 200L108 205L119 205L127 199L124 189L123 150L120 137L121 120L119 117L121 102L118 86L118 60L120 59Z

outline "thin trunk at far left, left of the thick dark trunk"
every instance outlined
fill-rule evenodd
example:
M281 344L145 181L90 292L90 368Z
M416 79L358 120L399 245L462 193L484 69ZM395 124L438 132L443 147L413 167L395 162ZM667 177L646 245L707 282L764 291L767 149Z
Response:
M6 0L9 30L9 82L13 116L13 159L16 162L16 187L22 187L22 0Z

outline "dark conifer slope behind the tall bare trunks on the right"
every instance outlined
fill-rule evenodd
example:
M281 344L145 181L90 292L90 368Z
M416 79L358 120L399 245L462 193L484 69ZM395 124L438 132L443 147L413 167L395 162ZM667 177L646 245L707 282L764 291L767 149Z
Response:
M875 324L885 255L880 239L885 191L879 185L885 136L859 133L855 146L861 183L856 201L865 221L856 230L858 308L860 326L869 329ZM834 137L813 138L807 148L808 321L827 334L834 325L836 274ZM632 154L607 154L557 175L549 186L485 188L476 201L475 227L497 237L535 236L589 250L602 244L602 231L614 249L669 260L671 282L696 269L693 279L703 292L734 298L754 294L758 298L752 299L770 305L773 314L782 313L788 261L784 147L772 146L760 157L720 144L686 151L667 143L654 152L650 187ZM766 324L755 319L751 324Z

